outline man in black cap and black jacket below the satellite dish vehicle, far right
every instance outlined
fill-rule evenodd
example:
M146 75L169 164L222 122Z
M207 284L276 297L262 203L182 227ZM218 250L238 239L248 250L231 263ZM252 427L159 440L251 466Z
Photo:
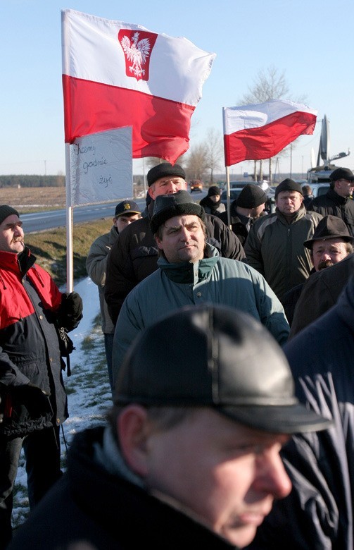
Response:
M330 188L310 202L308 209L322 216L331 214L343 219L350 235L354 236L354 174L348 168L337 168L329 176Z

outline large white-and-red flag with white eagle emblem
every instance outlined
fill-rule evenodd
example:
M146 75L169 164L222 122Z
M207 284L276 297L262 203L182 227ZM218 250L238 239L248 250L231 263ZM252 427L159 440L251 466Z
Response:
M133 158L174 163L215 54L184 37L62 10L65 142L132 126Z

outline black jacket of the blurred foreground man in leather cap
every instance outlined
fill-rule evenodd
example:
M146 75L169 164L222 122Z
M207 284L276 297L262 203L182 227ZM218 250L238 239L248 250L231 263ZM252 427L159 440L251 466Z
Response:
M135 222L134 222L135 223ZM8 550L234 550L235 546L94 461L103 427L75 436L68 472L16 530Z

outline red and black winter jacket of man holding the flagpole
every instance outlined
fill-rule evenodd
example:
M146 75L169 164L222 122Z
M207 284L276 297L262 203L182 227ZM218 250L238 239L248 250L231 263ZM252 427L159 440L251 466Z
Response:
M21 254L0 251L0 435L23 436L68 417L56 318L62 294L49 273ZM31 382L51 394L53 414L30 417L13 388Z

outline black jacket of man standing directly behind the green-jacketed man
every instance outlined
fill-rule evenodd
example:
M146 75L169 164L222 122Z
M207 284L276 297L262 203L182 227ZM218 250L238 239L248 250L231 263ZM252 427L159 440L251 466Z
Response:
M244 248L225 224L212 214L206 214L208 243L220 255L244 259ZM137 219L122 231L110 249L107 260L104 295L110 318L115 324L127 294L158 269L158 247L148 217Z

